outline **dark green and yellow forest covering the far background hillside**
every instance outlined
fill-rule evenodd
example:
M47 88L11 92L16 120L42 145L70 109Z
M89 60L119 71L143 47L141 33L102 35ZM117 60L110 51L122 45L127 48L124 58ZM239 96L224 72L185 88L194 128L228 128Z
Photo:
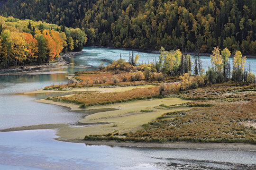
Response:
M8 0L0 14L78 27L87 45L256 54L256 0Z

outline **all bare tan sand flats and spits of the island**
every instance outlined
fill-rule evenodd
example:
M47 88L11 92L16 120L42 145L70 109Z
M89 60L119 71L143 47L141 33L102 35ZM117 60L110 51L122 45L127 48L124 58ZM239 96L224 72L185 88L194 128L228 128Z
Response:
M137 86L138 87L138 86ZM145 87L145 86L139 86ZM138 88L139 88L138 87ZM73 89L76 92L89 90L104 92L121 92L131 90L136 87L116 87L116 88L77 88ZM53 92L53 91L50 91ZM54 93L60 93L56 91ZM49 93L45 90L39 90L27 93ZM33 130L33 129L56 129L56 140L64 142L75 142L84 144L96 145L110 145L110 146L125 146L125 147L151 147L151 148L185 148L185 149L224 149L224 150L247 150L256 151L255 144L238 144L238 143L188 143L188 142L174 142L174 143L143 143L143 142L117 142L117 141L85 141L83 140L86 135L107 134L107 133L126 133L134 132L143 128L142 125L146 124L166 112L190 110L192 108L173 108L169 110L162 110L155 108L160 104L181 104L184 101L179 98L164 98L164 99L151 99L144 101L123 102L115 103L104 106L93 106L87 109L80 109L79 105L73 103L53 102L46 99L37 100L47 104L55 104L74 110L82 110L85 112L85 117L78 122L78 126L69 124L44 124L25 127L14 127L2 129L0 131L19 131L19 130ZM149 112L142 112L141 110L151 110Z

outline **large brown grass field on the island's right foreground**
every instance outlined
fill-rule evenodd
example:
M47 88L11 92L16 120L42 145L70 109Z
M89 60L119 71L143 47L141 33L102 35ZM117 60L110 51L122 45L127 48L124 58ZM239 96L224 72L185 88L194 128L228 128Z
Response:
M255 86L214 85L183 93L184 98L207 100L214 106L168 112L144 125L144 129L117 136L86 136L85 139L116 139L141 142L241 142L256 144ZM231 94L230 94L231 93ZM234 94L232 94L234 93ZM205 95L205 96L204 96ZM234 97L235 96L235 97ZM239 97L239 100L237 100ZM205 103L195 101L194 103Z

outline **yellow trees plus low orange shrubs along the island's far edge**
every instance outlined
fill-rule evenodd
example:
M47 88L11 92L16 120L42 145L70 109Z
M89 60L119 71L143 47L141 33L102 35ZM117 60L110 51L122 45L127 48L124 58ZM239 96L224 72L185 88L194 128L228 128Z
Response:
M211 67L207 70L202 68L199 55L192 58L179 49L166 51L164 47L161 47L159 52L158 59L152 59L151 62L147 60L145 63L138 63L139 56L135 57L133 52L129 53L128 62L120 55L120 59L113 61L106 68L114 70L114 74L119 74L119 70L128 72L126 76L121 77L122 81L138 81L143 79L143 75L146 80L158 82L170 78L180 79L180 90L228 81L256 83L256 76L251 72L250 65L246 68L246 56L243 57L240 51L235 52L230 62L231 52L228 48L221 51L219 47L214 47L210 55ZM103 68L101 63L99 69Z

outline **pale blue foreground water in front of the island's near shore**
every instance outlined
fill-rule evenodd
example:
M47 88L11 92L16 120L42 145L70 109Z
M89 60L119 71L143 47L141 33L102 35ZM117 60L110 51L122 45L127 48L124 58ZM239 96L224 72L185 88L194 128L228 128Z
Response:
M0 169L246 170L256 167L253 165L256 164L256 152L249 151L150 149L66 143L55 141L53 130L0 132L0 136Z

